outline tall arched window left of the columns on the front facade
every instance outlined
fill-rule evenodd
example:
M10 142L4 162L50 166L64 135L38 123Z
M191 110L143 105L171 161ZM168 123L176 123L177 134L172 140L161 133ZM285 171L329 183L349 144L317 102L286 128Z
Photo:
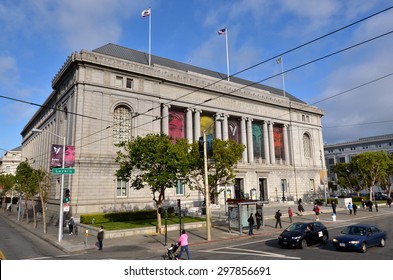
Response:
M131 139L131 109L125 105L115 108L113 114L113 143L120 144Z

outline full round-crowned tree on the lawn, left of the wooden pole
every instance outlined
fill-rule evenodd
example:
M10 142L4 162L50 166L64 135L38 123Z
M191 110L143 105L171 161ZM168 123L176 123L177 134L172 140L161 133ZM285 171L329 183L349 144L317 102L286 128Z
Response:
M165 200L165 190L176 187L179 179L188 174L189 144L185 139L176 142L165 134L138 136L119 145L116 162L120 168L115 175L130 181L136 190L149 187L157 209L156 232L161 232L159 208Z

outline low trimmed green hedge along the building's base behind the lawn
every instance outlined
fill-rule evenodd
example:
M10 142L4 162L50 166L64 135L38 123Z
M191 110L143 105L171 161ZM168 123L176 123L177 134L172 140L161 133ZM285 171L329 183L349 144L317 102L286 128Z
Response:
M135 220L145 220L156 218L157 211L141 210L129 212L111 212L111 213L96 213L96 214L82 214L80 215L80 222L82 224L92 224L94 219L95 224L109 223L109 222L126 222Z

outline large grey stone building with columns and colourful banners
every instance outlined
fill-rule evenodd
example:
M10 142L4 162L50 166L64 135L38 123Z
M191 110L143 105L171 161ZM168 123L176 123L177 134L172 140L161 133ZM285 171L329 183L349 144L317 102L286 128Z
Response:
M322 110L280 89L237 77L227 81L224 74L158 56L151 61L149 66L146 53L114 44L72 53L21 132L23 157L34 168L49 170L51 146L62 145L63 137L75 147L75 174L64 181L73 216L152 208L148 189L132 190L115 177L115 145L149 133L191 143L209 126L208 134L246 146L234 184L220 187L225 191L215 207L225 207L224 193L272 202L318 191ZM52 177L48 210L56 214L61 176ZM203 201L181 182L166 198L169 204L182 199L185 208Z

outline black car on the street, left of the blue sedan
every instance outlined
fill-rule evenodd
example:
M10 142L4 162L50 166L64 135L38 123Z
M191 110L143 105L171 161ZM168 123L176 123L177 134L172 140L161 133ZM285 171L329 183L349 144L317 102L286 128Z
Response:
M329 232L321 222L293 223L289 225L278 237L281 247L303 249L309 245L329 240Z

